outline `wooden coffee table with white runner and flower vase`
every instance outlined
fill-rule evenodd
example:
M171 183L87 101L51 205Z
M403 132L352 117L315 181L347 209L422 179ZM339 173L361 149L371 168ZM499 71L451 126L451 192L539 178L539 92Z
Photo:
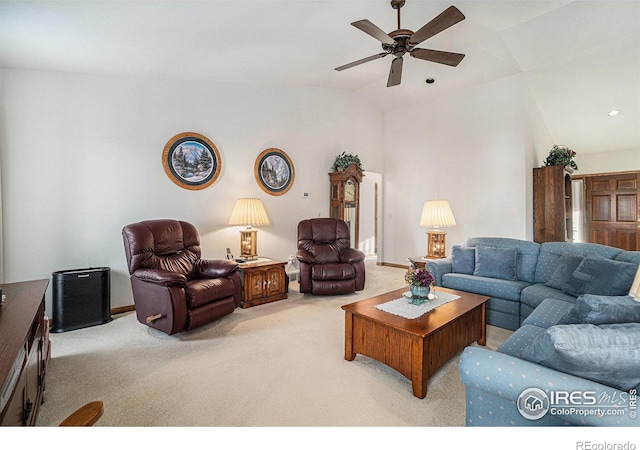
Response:
M368 356L411 380L413 395L427 395L427 381L467 345L486 345L489 297L438 287L459 295L417 319L381 311L376 305L402 297L408 288L344 305L344 358ZM436 292L437 293L437 292ZM408 300L407 300L408 301Z

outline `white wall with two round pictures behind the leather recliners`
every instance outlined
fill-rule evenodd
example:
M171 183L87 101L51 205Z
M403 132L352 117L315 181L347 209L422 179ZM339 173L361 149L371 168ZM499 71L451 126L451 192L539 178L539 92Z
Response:
M382 171L382 114L344 91L15 70L0 79L5 282L108 266L112 307L130 305L124 225L179 218L198 228L203 256L238 254L239 227L227 221L245 196L261 198L271 219L259 228L259 253L286 260L298 221L328 215L335 155L357 153ZM164 172L165 144L186 131L220 152L209 188L183 189ZM270 147L295 166L282 196L254 177Z

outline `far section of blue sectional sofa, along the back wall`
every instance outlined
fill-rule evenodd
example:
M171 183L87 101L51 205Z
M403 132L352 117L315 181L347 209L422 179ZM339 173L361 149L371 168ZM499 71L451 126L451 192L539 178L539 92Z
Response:
M450 257L428 260L425 267L433 274L436 286L491 297L487 323L516 330L546 298L575 302L581 293L580 286L575 280L564 286L566 283L558 280L556 269L564 268L570 275L583 257L640 264L640 252L599 244L538 244L511 238L474 237L465 245L454 246ZM628 289L591 293L625 295Z

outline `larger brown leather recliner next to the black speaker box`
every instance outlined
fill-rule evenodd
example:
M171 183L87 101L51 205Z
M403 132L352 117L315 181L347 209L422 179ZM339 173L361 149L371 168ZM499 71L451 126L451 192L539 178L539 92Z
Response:
M200 259L190 223L157 219L122 229L138 321L167 334L232 313L242 299L238 265Z

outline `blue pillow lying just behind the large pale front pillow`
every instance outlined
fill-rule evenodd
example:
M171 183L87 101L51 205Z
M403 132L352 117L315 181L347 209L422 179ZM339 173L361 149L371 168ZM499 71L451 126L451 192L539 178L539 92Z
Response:
M635 301L633 297L584 294L578 297L575 305L558 321L557 325L629 322L640 323L640 302Z

